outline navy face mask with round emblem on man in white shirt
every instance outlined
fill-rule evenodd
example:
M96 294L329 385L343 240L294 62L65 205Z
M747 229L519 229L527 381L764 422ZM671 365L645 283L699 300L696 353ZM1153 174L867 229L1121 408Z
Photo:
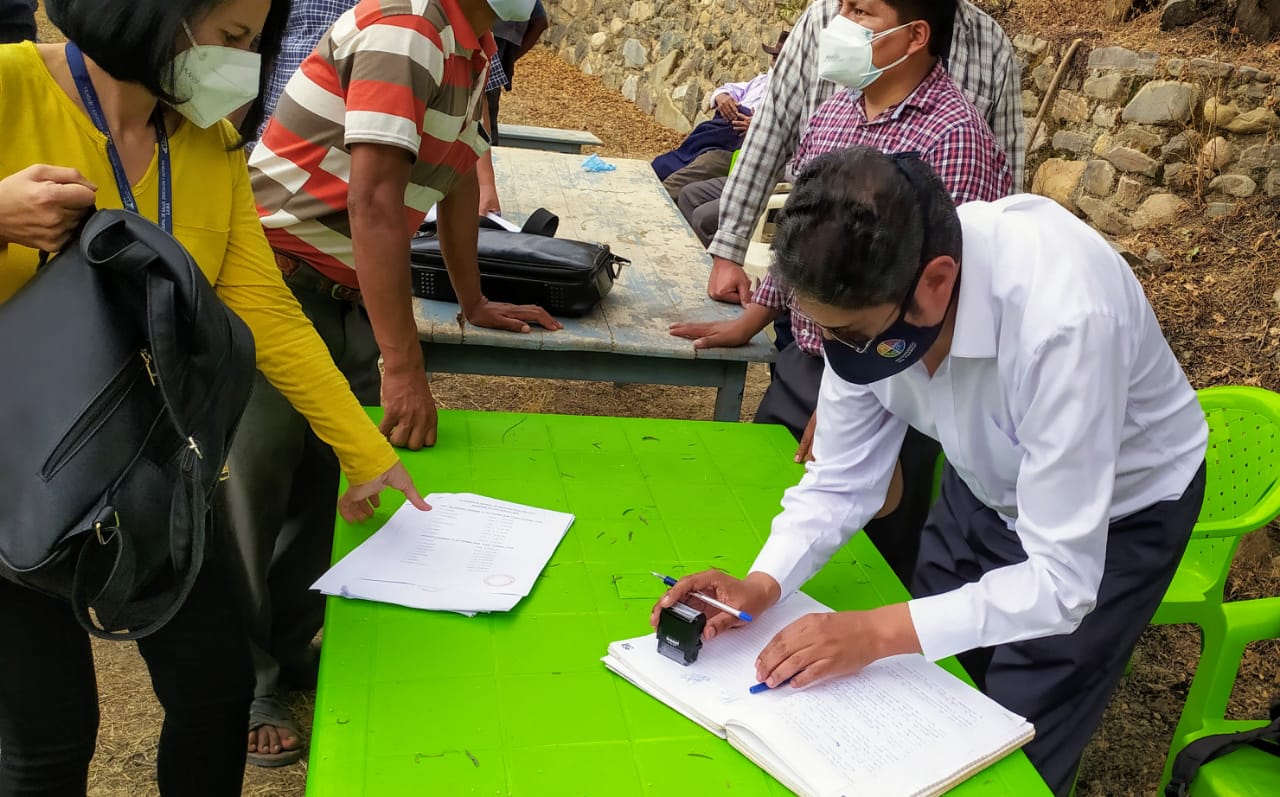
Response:
M860 345L854 345L831 335L822 340L822 351L827 356L827 363L831 365L831 370L836 372L836 376L854 385L878 383L882 379L888 379L895 374L901 374L910 368L929 351L929 347L933 345L942 333L942 325L946 322L947 313L943 313L942 321L938 321L933 326L915 326L906 322L906 310L911 306L911 301L915 297L915 287L920 284L920 276L924 274L925 262L923 262L923 258L929 252L929 197L924 196L915 178L911 177L910 170L902 164L904 159L911 157L918 157L918 155L915 152L904 152L890 156L893 165L899 168L906 182L910 183L915 194L920 197L920 207L924 215L923 237L920 241L922 262L916 267L915 279L911 280L911 287L906 290L906 298L902 299L902 306L897 311L897 319L888 325L888 329ZM955 302L959 287L960 276L957 271L956 281L951 287L951 301L947 303L947 311L951 310L951 302Z

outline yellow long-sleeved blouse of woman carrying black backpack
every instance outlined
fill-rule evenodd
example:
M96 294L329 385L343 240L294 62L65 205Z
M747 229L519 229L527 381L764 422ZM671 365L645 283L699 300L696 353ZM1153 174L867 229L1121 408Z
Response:
M32 43L0 46L0 177L33 164L70 166L97 185L97 207L122 206L106 137L67 96ZM347 477L369 481L396 464L396 452L360 408L284 285L262 235L244 154L229 151L236 141L227 122L209 129L184 122L170 137L174 235L252 330L259 370L333 446ZM155 159L133 196L155 220ZM0 303L31 279L37 258L38 252L17 244L0 248Z

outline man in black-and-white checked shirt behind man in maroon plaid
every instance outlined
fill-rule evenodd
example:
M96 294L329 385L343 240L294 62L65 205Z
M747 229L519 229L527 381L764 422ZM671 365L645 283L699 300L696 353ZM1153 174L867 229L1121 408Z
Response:
M887 0L813 0L791 29L773 68L769 93L760 104L742 142L733 174L719 200L719 229L707 251L712 275L707 293L722 302L751 301L751 280L742 270L755 220L773 193L809 116L837 88L818 78L818 36L841 13L865 13ZM892 0L893 6L928 8L931 0ZM916 14L922 15L922 14ZM947 72L978 106L1009 156L1014 187L1021 191L1024 130L1021 68L1014 47L995 19L969 0L956 4L955 33L947 50ZM887 63L887 61L886 61Z

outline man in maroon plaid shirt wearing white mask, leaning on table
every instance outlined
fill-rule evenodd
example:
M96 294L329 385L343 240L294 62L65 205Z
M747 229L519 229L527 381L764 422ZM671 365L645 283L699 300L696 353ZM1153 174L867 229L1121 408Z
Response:
M868 146L884 152L918 152L942 178L956 205L1006 196L1012 177L1005 152L940 58L942 42L950 37L946 9L936 10L931 24L928 18L899 15L891 3L858 0L847 5L854 10L850 19L879 35L876 51L884 47L886 52L883 58L877 55L878 60L890 64L900 55L904 60L861 92L842 88L818 107L787 168L788 178L819 155ZM942 0L933 8L945 5ZM895 43L895 38L900 41ZM886 79L890 75L895 79ZM822 330L796 311L791 293L777 283L772 270L737 319L673 324L671 331L692 339L695 348L742 345L786 310L791 311L795 340L778 353L773 381L755 421L787 426L801 441L796 461L803 461L809 457L822 383ZM915 565L938 450L927 435L908 432L900 458L901 484L891 490L891 495L901 490L897 510L886 507L890 513L867 526L868 536L904 583L909 583Z

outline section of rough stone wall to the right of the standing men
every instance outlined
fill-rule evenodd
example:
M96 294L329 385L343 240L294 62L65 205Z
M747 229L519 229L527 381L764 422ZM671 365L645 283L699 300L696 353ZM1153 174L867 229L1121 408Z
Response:
M1027 63L1029 128L1057 55L1030 36L1014 46ZM1114 235L1167 223L1190 196L1220 216L1260 191L1280 194L1274 75L1124 47L1076 59L1083 73L1076 64L1064 81L1030 148L1033 191Z

